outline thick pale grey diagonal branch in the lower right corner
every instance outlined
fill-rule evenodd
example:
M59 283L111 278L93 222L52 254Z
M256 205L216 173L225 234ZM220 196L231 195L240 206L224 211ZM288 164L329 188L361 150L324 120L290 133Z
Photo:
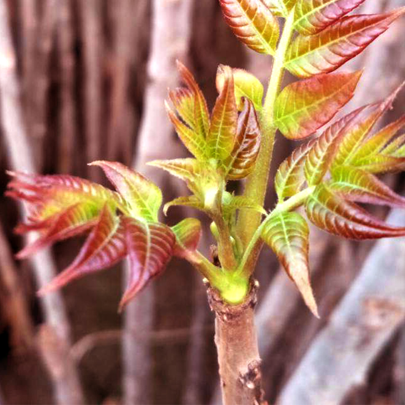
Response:
M394 210L387 221L405 225ZM340 403L364 382L378 353L405 318L405 240L377 242L329 325L282 390L280 404ZM350 370L350 372L348 372Z

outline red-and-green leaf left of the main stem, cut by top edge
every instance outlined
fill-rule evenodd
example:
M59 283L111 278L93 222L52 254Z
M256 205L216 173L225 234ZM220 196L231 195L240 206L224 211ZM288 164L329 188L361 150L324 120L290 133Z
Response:
M260 0L220 0L226 23L236 37L256 52L274 55L279 28Z

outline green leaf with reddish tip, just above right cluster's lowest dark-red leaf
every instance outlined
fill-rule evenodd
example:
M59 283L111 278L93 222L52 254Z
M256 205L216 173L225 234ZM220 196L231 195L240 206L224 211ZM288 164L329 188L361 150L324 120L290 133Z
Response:
M352 167L340 167L330 184L334 192L350 201L405 207L405 198L396 194L370 173Z

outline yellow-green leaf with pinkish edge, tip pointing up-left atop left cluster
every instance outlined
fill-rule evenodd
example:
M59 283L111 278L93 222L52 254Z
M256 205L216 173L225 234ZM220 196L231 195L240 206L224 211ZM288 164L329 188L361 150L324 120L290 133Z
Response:
M121 163L96 160L90 165L100 166L108 180L131 205L132 213L148 221L157 221L162 195L159 187Z

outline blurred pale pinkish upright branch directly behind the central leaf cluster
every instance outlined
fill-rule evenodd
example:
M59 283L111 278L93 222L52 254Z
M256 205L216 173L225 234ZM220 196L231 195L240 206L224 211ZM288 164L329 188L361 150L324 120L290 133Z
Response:
M145 163L164 156L167 158L168 146L173 144L173 131L166 116L163 100L167 88L175 87L177 83L175 60L184 59L188 50L192 4L191 0L164 2L154 0L152 3L149 84L145 92L144 113L134 167L159 185L163 185L163 177L156 177L158 175L156 171L150 169L148 171ZM176 155L176 150L171 148L169 154L171 153ZM152 322L153 287L149 286L128 305L125 313L124 401L128 404L149 402L150 392L147 389L150 387L151 366L149 345L139 341L134 332L139 329L150 331Z

